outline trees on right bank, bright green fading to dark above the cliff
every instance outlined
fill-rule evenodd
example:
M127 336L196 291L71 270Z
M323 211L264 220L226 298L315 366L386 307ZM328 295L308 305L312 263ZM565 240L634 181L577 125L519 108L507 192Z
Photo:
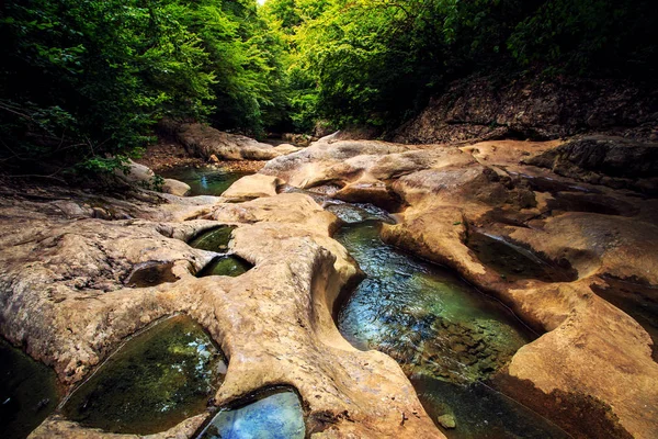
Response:
M655 77L657 11L637 0L269 0L263 16L287 44L298 127L393 127L478 70Z

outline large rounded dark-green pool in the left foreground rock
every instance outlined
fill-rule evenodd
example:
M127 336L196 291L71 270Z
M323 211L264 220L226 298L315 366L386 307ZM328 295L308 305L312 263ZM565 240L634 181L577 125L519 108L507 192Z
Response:
M201 326L174 316L122 346L70 395L63 414L105 431L163 431L203 413L225 371Z

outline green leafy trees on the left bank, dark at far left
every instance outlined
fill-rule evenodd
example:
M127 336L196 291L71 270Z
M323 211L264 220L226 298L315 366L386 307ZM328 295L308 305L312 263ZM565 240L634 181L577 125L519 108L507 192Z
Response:
M162 117L259 133L284 105L254 0L16 0L0 37L0 159L16 169L106 171Z

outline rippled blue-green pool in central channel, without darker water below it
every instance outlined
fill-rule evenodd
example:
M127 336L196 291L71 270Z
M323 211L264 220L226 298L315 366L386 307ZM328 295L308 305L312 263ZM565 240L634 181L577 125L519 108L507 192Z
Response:
M384 244L376 223L345 226L337 239L367 275L342 304L339 329L359 348L388 353L408 374L487 379L532 339L500 303Z

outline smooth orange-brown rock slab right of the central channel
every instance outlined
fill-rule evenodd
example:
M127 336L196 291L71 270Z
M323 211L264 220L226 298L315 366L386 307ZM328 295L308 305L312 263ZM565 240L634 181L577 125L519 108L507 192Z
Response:
M658 333L633 318L643 317L634 306L622 311L594 293L619 279L653 285L645 305L657 299L655 199L522 162L566 148L560 142L462 148L330 142L272 160L261 172L302 188L331 183L341 188L337 198L397 201L398 224L384 226L385 240L453 268L546 333L498 378L513 383L508 393L574 437L655 436ZM476 252L478 234L565 274L522 277L523 263L513 258L491 264L502 252L489 260L481 248Z

